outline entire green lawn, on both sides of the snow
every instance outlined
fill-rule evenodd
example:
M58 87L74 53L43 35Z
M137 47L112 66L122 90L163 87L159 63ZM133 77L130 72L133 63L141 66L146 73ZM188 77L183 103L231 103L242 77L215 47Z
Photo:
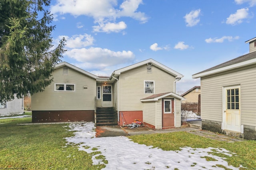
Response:
M26 115L31 113L26 113ZM102 169L105 165L92 165L94 153L79 151L76 146L66 145L64 137L72 136L65 124L26 125L31 117L21 119L0 119L0 168L26 169ZM180 147L207 148L220 147L236 153L226 157L233 166L239 164L247 170L256 170L256 141L225 143L203 138L186 132L162 133L130 136L136 143L152 145L163 150L178 150ZM211 160L211 157L207 157ZM243 169L243 168L240 168Z

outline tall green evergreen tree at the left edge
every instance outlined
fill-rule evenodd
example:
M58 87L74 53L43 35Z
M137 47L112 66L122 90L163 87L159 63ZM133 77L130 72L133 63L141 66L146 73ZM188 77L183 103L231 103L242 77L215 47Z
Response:
M0 0L0 102L42 92L65 52L53 49L50 0Z

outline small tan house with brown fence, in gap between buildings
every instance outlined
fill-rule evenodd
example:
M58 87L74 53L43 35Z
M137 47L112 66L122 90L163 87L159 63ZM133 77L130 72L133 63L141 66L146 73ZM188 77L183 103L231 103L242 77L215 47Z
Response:
M183 93L182 97L185 100L182 100L181 109L187 111L193 111L194 113L201 113L201 88L200 86L194 86L190 90Z

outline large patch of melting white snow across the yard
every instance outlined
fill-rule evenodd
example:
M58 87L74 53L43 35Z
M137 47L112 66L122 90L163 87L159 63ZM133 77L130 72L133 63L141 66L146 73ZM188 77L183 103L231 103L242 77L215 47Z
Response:
M223 165L232 170L238 170L233 166L229 166L225 158L212 155L208 152L221 152L228 156L233 156L226 149L221 148L190 148L184 147L181 150L164 151L152 146L140 145L130 141L127 137L100 137L96 138L95 126L92 122L70 124L70 130L74 131L74 136L65 138L66 145L77 144L79 150L84 150L87 153L100 151L101 154L92 156L93 164L104 164L102 160L96 159L96 156L103 155L108 164L106 170L162 170L174 169L179 170L198 170L211 169L223 170L224 168L217 167L216 164ZM94 150L92 150L94 148ZM95 150L98 149L98 150ZM67 157L70 155L67 155ZM210 156L216 161L206 161L204 156Z

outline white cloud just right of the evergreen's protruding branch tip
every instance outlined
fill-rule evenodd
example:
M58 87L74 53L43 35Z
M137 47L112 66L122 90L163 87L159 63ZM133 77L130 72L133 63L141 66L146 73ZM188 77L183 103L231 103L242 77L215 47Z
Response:
M66 35L60 35L59 39L65 37L67 48L81 48L93 45L94 37L92 35L84 34L84 35L73 35L72 37L68 37Z

